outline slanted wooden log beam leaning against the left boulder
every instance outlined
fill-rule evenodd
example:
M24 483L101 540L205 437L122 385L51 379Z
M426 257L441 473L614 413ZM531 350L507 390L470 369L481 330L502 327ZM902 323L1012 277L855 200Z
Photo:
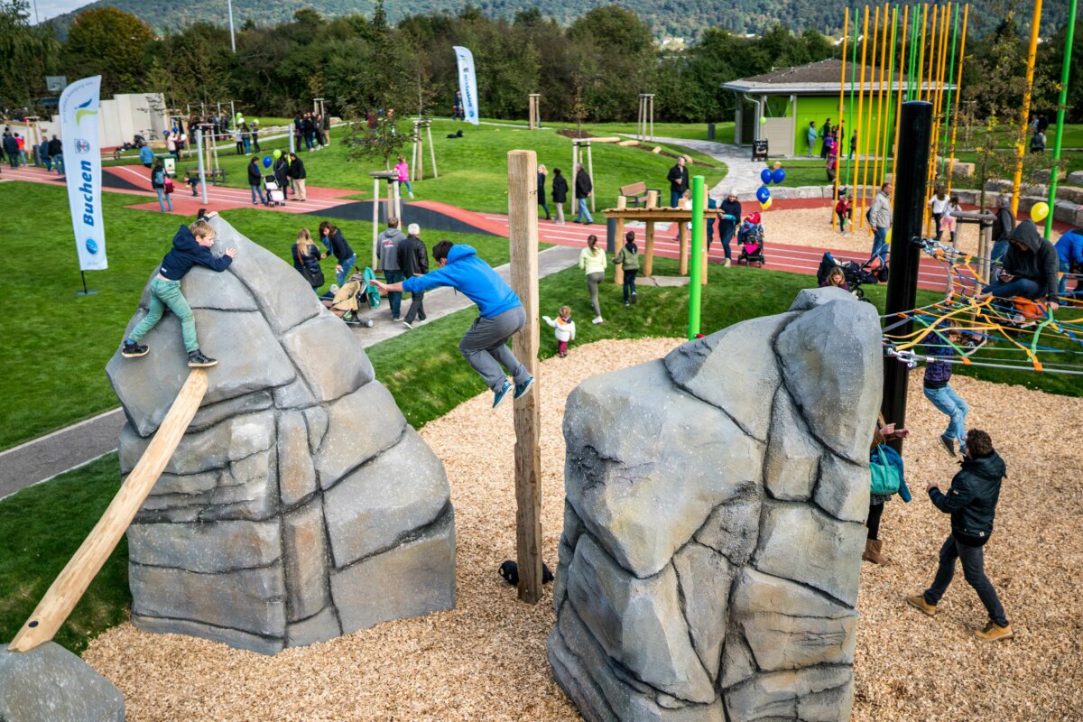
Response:
M113 553L120 537L154 488L154 483L166 469L170 457L177 450L177 445L181 443L184 432L192 423L192 417L199 410L199 404L207 393L207 385L206 371L193 369L188 372L187 381L181 386L173 405L169 407L169 412L143 451L139 463L128 474L120 490L113 497L109 507L79 550L49 587L34 609L34 614L8 645L9 649L29 652L56 634L56 630L71 614L71 609L82 598L87 587Z

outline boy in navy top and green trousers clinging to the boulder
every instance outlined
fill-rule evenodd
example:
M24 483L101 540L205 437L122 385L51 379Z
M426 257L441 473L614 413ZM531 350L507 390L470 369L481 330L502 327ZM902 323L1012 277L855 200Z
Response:
M208 213L205 218L213 215L214 213ZM190 226L180 227L173 236L173 248L166 253L158 268L158 275L151 281L151 310L125 339L123 347L120 350L121 356L139 358L151 351L140 343L140 339L161 320L161 315L168 307L181 319L181 333L184 337L184 350L188 352L188 366L205 368L218 364L216 359L208 358L199 351L195 316L192 314L192 306L181 293L181 278L192 270L192 266L201 265L221 272L230 267L233 259L237 258L237 251L233 248L225 249L224 254L214 258L210 252L213 245L214 228L205 219L199 219Z

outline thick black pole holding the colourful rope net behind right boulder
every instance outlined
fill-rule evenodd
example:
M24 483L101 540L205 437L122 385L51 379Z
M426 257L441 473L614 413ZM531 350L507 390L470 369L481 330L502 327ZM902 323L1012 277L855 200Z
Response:
M921 249L911 242L922 235L926 181L929 173L929 141L932 134L932 104L913 101L902 104L899 116L899 154L895 159L895 215L891 219L891 275L887 284L888 316L910 311L917 303L917 266ZM912 330L908 321L896 333ZM910 369L897 358L884 357L884 401L880 410L888 423L906 424L906 380ZM902 439L891 446L902 450Z

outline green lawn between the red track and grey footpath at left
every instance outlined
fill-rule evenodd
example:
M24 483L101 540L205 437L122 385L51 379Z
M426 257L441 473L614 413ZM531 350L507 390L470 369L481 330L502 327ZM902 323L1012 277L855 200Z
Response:
M184 221L125 207L133 202L141 199L103 194L109 268L87 273L87 284L97 294L77 297L75 291L81 286L65 189L38 183L0 184L0 207L34 209L32 222L23 213L0 213L0 237L5 239L10 266L0 285L4 310L0 360L8 369L0 380L0 449L117 406L103 371L105 363L120 342L146 279ZM306 225L314 232L321 220L252 209L223 215L283 259L289 258L298 227ZM364 263L371 248L371 224L347 221L338 225ZM443 237L469 242L493 265L508 260L506 239ZM426 239L431 248L435 239ZM331 260L324 265L332 283Z

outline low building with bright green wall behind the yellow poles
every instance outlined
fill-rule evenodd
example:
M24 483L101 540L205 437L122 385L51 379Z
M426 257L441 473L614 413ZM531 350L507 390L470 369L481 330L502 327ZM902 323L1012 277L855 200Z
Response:
M806 133L809 122L815 123L817 140L812 148L814 157L820 156L823 137L820 132L831 119L832 126L839 124L839 84L845 83L843 93L841 124L839 137L843 155L850 152L850 139L858 131L857 148L860 155L869 155L876 141L879 128L882 143L887 133L893 143L898 93L905 92L905 83L900 84L896 69L895 80L880 78L879 68L866 66L864 70L865 100L859 102L861 91L861 67L846 64L843 78L843 62L838 60L819 61L793 68L772 70L764 75L742 78L725 83L722 90L730 91L736 99L733 142L747 145L754 139L766 139L771 156L806 156L808 144ZM877 103L877 94L883 83L883 101ZM853 100L851 107L850 88ZM926 83L923 88L928 88ZM931 83L936 89L939 86ZM948 83L943 89L949 88ZM877 91L872 95L870 92ZM892 144L888 144L888 154Z

